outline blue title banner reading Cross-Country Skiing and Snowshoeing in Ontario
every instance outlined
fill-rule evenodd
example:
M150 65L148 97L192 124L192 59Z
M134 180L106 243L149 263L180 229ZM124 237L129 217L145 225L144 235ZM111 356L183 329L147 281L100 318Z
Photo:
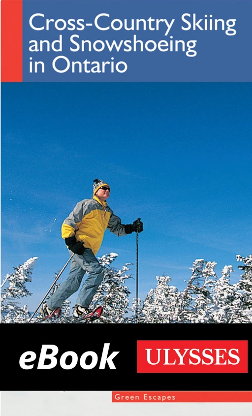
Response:
M23 81L251 82L252 1L23 1Z

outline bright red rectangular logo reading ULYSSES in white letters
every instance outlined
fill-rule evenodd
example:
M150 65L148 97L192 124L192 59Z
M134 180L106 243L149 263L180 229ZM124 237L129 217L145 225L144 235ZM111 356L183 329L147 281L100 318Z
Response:
M248 373L248 341L137 341L138 373Z

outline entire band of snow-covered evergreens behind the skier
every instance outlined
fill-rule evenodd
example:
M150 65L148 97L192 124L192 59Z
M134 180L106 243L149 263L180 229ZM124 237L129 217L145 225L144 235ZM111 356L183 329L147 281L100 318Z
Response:
M112 267L117 256L116 253L110 253L99 258L105 269L104 279L91 308L101 305L103 313L94 323L135 323L136 304L139 323L252 323L252 255L236 256L237 261L242 263L238 268L243 272L237 283L230 284L230 275L234 271L231 265L224 266L218 278L216 262L197 259L190 268L191 276L184 290L171 285L171 277L157 276L156 288L152 288L144 300L139 298L136 302L134 298L131 306L130 291L126 286L127 279L132 277L128 274L130 263L121 269ZM32 280L36 259L32 257L15 267L14 273L6 275L3 280L3 323L28 322L31 314L27 305L20 307L16 300L31 295L26 284ZM57 323L69 321L71 309L70 302L66 300ZM35 322L38 317L39 314L32 321Z

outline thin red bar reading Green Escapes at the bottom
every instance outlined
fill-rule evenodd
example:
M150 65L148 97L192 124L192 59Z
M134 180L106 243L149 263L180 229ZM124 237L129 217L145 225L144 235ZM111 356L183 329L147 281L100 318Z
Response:
M112 391L113 403L245 403L252 391Z

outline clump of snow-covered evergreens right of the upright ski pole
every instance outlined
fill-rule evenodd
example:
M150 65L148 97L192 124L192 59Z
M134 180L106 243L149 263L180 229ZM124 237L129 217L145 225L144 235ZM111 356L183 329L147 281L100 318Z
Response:
M191 267L187 287L169 286L170 277L157 276L157 288L141 301L143 323L252 323L252 256L237 256L244 265L238 283L231 285L232 266L222 269L218 279L214 261L197 259Z

